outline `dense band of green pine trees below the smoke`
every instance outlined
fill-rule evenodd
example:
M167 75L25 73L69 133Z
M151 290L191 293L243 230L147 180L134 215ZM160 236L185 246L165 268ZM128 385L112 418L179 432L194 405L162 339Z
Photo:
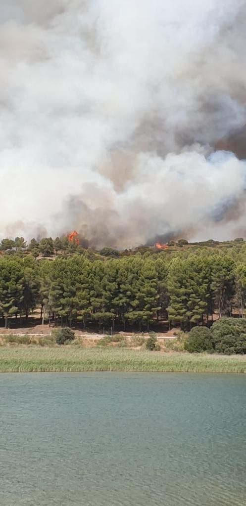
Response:
M2 240L3 326L15 318L24 323L37 308L43 323L113 331L189 331L210 326L215 314L246 314L242 239L124 252L97 252L58 239L32 239L29 245L23 238Z

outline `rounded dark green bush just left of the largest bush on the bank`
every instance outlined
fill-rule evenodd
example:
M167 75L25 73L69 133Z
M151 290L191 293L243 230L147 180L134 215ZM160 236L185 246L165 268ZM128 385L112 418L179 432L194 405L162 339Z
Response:
M207 327L193 327L184 343L184 349L189 353L213 351L212 332Z

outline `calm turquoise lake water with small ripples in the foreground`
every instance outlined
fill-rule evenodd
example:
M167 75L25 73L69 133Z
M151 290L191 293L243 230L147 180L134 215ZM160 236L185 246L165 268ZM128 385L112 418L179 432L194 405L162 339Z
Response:
M0 375L1 506L246 505L246 377Z

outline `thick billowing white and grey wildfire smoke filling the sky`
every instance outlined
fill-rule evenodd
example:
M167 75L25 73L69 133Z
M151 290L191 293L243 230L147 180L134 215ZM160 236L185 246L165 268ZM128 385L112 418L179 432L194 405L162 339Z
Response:
M245 124L245 14L244 0L2 0L1 235L246 233L246 163L215 152Z

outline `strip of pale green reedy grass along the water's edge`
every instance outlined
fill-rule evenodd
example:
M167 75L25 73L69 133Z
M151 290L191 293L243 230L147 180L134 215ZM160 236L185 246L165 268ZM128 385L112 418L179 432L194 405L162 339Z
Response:
M0 372L246 372L246 355L190 355L117 348L0 348Z

